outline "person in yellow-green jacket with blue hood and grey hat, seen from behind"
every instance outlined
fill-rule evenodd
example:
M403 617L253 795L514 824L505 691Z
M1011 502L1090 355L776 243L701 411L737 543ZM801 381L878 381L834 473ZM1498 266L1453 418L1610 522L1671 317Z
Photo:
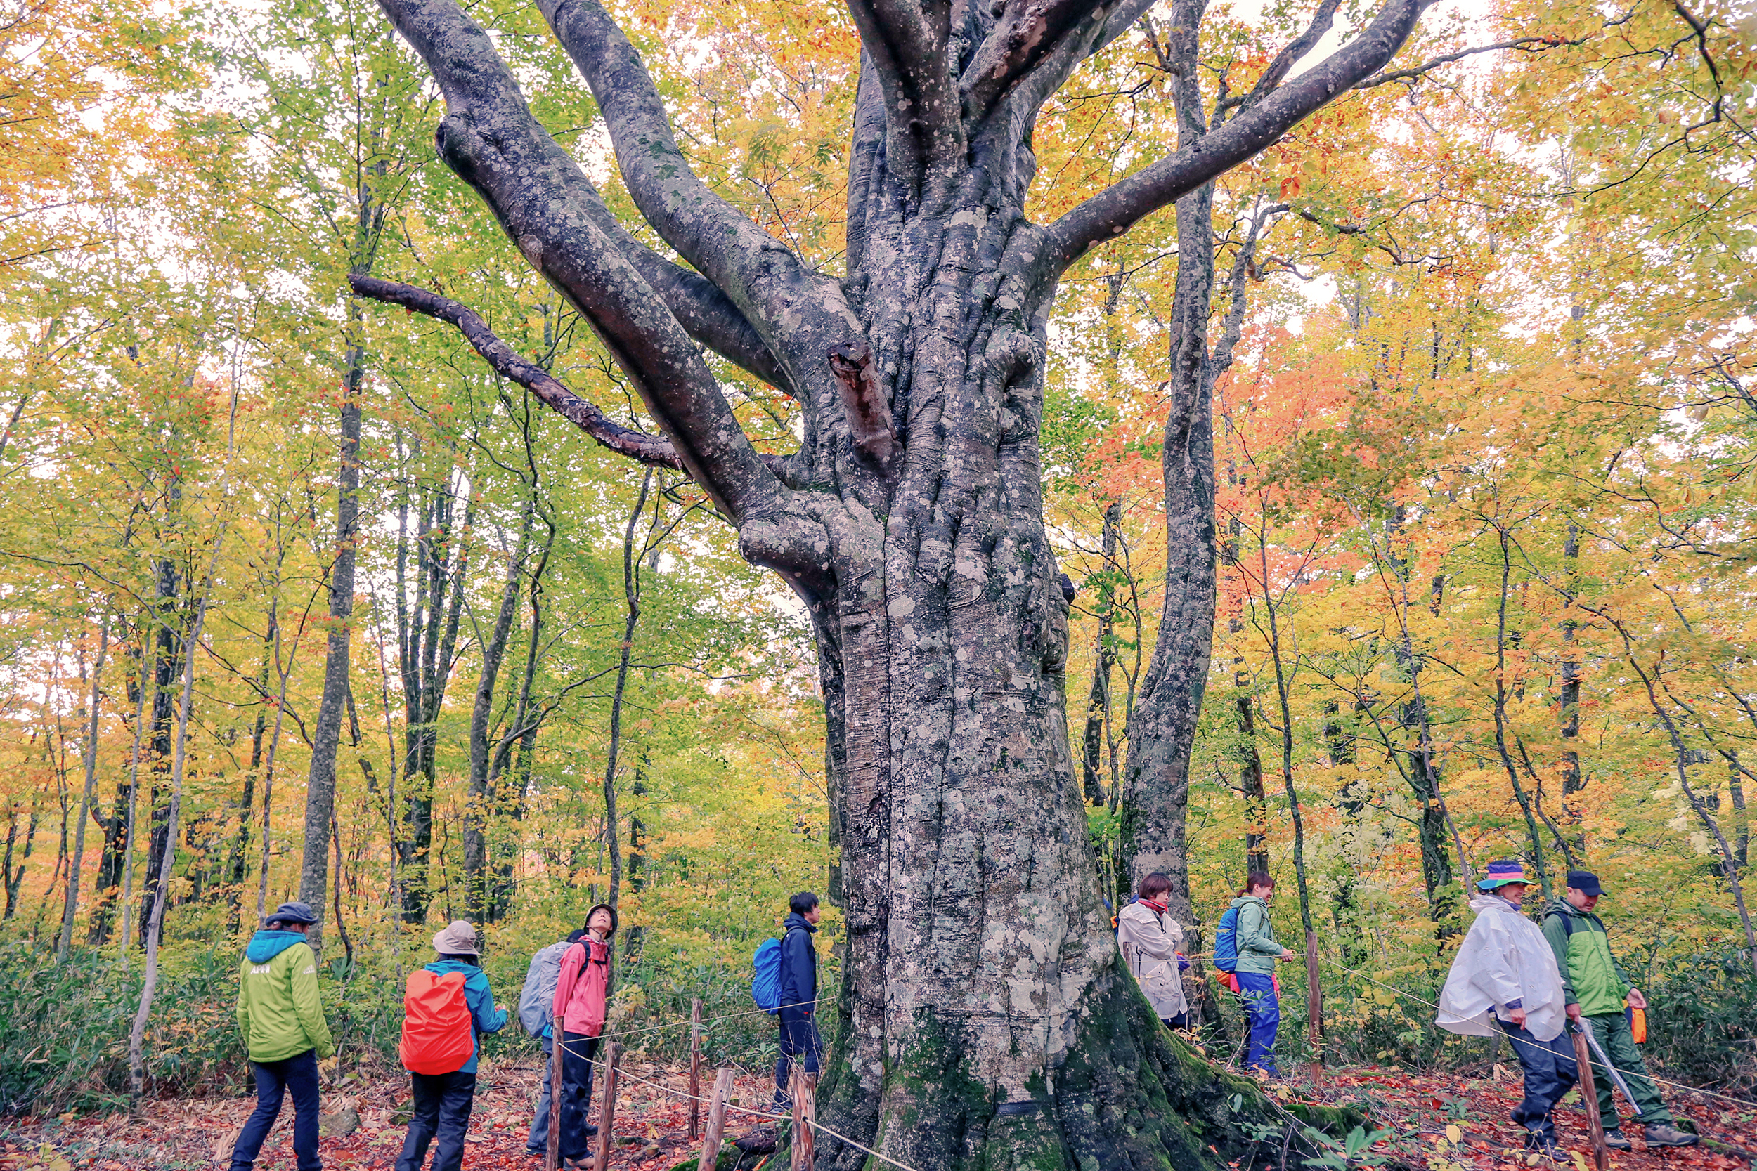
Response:
M306 902L283 902L264 918L237 981L237 1031L257 1074L257 1110L232 1146L232 1171L251 1171L281 1099L293 1096L293 1159L322 1171L318 1159L318 1062L336 1052L318 999L318 957L306 929L318 916Z

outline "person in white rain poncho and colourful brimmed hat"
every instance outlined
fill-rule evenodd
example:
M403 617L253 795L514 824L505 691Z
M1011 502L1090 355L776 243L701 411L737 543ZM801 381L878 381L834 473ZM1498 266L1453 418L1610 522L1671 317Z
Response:
M1525 1127L1525 1150L1555 1159L1550 1111L1573 1088L1578 1071L1564 1036L1567 1022L1562 973L1543 929L1520 915L1530 880L1516 860L1488 864L1488 878L1471 899L1476 922L1439 994L1434 1024L1450 1032L1508 1034L1525 1071L1525 1097L1513 1120Z

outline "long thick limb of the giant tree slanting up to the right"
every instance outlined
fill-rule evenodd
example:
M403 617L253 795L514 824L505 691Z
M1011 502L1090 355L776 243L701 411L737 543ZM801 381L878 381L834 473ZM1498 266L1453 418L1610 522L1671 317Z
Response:
M1284 83L1230 123L1091 197L1044 232L1040 263L1054 276L1088 248L1272 146L1337 93L1383 68L1434 0L1388 0L1377 18L1316 68Z

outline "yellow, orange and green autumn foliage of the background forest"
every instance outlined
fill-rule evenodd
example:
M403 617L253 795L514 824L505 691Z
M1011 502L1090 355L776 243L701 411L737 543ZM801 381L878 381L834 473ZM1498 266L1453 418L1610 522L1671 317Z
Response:
M611 9L706 188L849 276L857 16ZM1323 9L1295 65L1304 5L1211 5L1195 75L1147 9L1044 100L1026 219L1174 156L1181 88L1219 133L1374 16ZM675 256L543 12L469 14ZM434 925L485 925L517 987L599 901L629 1017L740 1002L794 890L828 895L840 962L859 880L821 611L687 458L648 458L669 423L436 151L446 98L380 7L0 0L0 990L56 962L137 980L149 938L199 983L288 899L322 908L325 980L380 1001ZM1385 988L1434 992L1492 858L1544 894L1601 874L1645 985L1750 971L1753 37L1718 0L1437 4L1045 302L1031 467L1072 595L1045 676L1116 906L1158 848L1132 829L1137 700L1184 548L1167 418L1202 237L1197 334L1225 351L1181 909L1212 925L1247 869L1297 892L1277 913L1323 955L1332 1055L1442 1055ZM362 279L466 305L603 421ZM819 435L787 370L696 360L768 467ZM1748 1092L1748 1046L1692 1048L1701 1024L1676 1018L1671 1067ZM135 1092L193 1080L153 1029ZM128 1076L0 1081L28 1106Z

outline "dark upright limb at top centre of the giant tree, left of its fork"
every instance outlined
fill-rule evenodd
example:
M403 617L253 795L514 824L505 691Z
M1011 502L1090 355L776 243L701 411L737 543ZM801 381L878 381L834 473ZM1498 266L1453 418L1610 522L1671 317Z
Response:
M886 169L910 188L965 154L947 0L849 0L886 107Z

